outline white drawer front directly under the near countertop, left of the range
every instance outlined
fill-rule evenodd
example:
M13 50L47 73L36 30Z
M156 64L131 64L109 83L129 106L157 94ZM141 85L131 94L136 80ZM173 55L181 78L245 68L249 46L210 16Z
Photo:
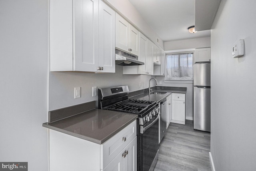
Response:
M112 161L119 153L132 141L137 135L137 121L133 121L118 132L116 135L111 137L108 141L100 145L100 169L104 169L110 161Z

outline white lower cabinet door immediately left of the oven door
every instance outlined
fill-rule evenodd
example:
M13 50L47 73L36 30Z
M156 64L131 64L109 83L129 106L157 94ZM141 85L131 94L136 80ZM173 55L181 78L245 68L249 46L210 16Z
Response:
M124 148L124 152L128 151L124 157L124 171L137 170L137 136Z

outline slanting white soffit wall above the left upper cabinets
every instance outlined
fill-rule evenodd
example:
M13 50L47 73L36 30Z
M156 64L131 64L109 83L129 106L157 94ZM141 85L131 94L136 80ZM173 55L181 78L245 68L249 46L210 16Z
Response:
M154 30L148 25L148 23L142 18L138 10L130 3L129 0L103 0L112 6L116 11L121 13L129 22L134 24L140 32L147 36L154 44L164 49L164 42L154 32ZM159 44L156 42L158 38Z

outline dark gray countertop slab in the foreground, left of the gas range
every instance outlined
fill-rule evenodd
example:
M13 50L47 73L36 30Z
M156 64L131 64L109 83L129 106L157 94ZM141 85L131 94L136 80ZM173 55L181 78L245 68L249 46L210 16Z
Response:
M93 109L52 123L43 123L43 127L102 144L137 118L138 115L130 113Z

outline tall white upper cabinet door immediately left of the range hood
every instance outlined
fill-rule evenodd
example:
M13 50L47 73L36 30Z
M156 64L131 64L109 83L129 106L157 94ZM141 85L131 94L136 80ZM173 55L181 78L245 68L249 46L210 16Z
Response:
M115 72L115 12L99 1L99 66L100 72Z

